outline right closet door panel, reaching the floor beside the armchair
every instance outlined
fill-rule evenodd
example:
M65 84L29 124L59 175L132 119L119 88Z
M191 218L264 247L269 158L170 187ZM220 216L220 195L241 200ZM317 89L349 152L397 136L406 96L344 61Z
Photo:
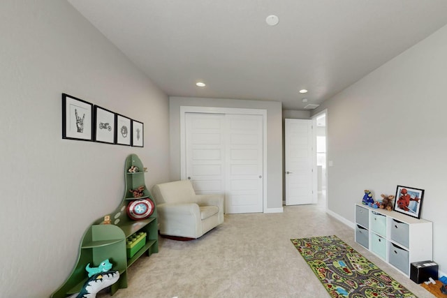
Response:
M227 114L226 211L263 211L263 117Z

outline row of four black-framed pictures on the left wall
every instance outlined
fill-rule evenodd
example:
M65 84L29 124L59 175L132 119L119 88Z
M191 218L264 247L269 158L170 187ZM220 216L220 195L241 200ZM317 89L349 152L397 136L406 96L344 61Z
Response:
M144 147L144 124L122 114L62 94L62 138Z

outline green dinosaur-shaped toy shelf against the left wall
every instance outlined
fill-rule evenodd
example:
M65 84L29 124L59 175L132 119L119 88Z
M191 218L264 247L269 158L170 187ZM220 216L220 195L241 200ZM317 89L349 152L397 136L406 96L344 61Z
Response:
M142 172L128 172L131 166L138 167ZM108 214L108 221L105 216L98 218L82 237L79 248L78 260L66 281L59 289L52 293L52 298L65 298L68 295L80 292L85 281L87 281L87 271L85 267L90 263L91 267L96 267L100 262L109 259L112 262L112 270L119 271L119 280L110 286L111 295L115 294L119 288L127 288L127 269L142 255L148 256L159 252L159 235L157 211L152 195L145 186L145 172L140 158L136 154L131 154L126 158L124 166L124 181L126 193L122 203L117 209ZM145 186L142 197L133 198L131 190ZM133 221L127 215L127 205L133 200L150 199L154 202L154 212L149 218ZM126 238L135 232L146 232L145 245L139 251L127 258Z

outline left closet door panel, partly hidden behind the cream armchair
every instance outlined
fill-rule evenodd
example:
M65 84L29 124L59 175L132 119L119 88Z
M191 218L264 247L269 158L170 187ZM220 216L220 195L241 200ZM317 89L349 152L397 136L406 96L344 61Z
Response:
M225 191L225 114L185 115L186 179L197 194Z

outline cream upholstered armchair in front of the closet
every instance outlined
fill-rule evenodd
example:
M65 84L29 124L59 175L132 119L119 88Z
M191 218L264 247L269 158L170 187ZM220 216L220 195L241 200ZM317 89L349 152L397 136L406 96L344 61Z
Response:
M156 184L160 234L196 239L223 223L223 194L196 195L191 181Z

